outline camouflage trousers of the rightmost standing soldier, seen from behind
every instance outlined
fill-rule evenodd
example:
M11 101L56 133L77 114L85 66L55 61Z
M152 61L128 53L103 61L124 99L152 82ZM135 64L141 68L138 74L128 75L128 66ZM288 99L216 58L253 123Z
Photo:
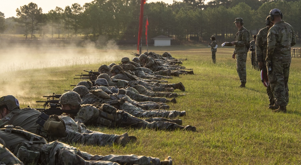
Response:
M268 81L275 98L275 103L279 106L286 106L289 101L288 77L290 74L290 64L275 63L272 61L272 72L268 73Z

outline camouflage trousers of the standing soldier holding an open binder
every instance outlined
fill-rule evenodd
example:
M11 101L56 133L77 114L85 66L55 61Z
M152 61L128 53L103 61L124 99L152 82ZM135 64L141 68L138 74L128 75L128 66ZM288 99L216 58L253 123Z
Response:
M247 82L246 61L248 52L236 53L236 71L240 82Z

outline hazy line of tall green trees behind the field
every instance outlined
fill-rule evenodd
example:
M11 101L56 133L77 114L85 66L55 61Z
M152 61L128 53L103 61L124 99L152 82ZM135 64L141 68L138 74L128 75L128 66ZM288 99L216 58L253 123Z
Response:
M137 40L140 2L133 0L94 0L83 6L74 3L64 9L56 7L46 14L31 2L16 9L17 17L5 18L0 12L0 33L23 34L26 39L91 39L100 36L115 40ZM165 35L178 42L208 42L210 36L219 41L233 39L237 29L234 19L244 19L252 35L264 28L269 11L278 8L283 20L290 23L300 39L301 1L297 0L183 0L183 2L151 2L144 5L144 25L148 18L148 36ZM47 36L49 35L50 36ZM56 37L54 37L56 34ZM144 28L145 34L145 28ZM58 36L57 36L58 35ZM143 37L145 40L145 37Z

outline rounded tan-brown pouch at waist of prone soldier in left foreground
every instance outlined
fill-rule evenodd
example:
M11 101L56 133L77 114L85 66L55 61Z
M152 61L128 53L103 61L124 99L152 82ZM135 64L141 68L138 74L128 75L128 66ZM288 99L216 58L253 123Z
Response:
M57 115L51 115L43 126L48 135L54 137L66 137L66 125L64 120L60 119Z

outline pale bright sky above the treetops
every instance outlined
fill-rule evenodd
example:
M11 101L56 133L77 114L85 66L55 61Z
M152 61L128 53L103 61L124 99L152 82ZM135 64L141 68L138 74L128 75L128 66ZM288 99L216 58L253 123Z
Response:
M30 2L33 2L37 4L39 8L42 8L43 13L48 13L48 11L54 10L55 7L64 9L66 6L71 6L74 3L78 3L82 6L85 3L92 1L93 0L0 0L0 12L4 13L5 18L9 18L17 17L16 9L20 9L20 6L28 5ZM173 0L147 0L147 3L158 1L172 4ZM182 2L182 0L175 1Z

